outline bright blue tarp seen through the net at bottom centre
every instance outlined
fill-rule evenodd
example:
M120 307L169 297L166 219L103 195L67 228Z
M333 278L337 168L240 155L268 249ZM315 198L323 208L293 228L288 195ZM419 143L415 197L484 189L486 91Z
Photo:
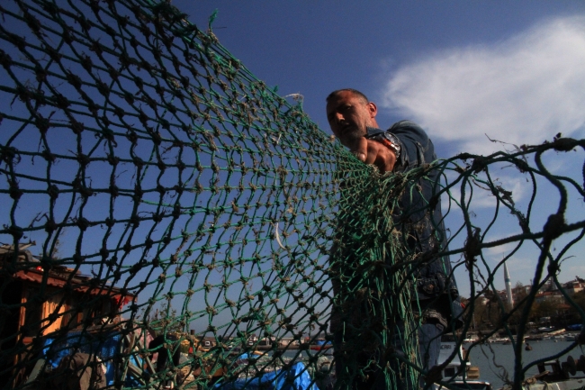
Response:
M247 354L238 358L245 359ZM305 366L299 362L290 369L267 372L255 378L242 378L227 384L216 385L220 390L319 390L314 383L311 385L311 376Z

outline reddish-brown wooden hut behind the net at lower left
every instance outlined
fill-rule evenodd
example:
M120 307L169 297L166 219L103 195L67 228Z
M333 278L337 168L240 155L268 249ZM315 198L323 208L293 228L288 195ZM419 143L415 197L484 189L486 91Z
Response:
M95 324L120 321L135 296L73 268L43 268L28 250L34 243L0 246L0 372L23 367L23 350ZM13 376L6 374L7 377ZM4 377L0 381L5 383Z

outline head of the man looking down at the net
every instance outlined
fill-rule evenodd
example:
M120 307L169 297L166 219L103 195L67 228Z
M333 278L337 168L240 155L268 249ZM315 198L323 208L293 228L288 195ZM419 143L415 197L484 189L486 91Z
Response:
M329 99L327 119L331 131L347 148L353 149L365 136L367 126L377 127L375 104L366 103L363 98L349 91L342 91Z

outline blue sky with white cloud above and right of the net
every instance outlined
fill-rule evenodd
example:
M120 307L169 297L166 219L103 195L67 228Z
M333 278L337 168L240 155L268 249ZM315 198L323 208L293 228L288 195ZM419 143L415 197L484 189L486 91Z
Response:
M278 86L280 95L301 94L305 112L324 131L329 131L325 97L353 87L378 105L381 126L402 119L423 126L439 158L514 150L551 141L559 132L585 135L583 2L174 0L172 5L202 30L217 10L211 28L220 43L268 86ZM557 157L550 164L557 172L579 169L582 153L573 166L576 157ZM517 203L528 201L526 177L502 171L500 182L513 190ZM554 191L541 190L537 201L558 204ZM475 203L479 220L492 213L493 202L483 198L486 202ZM572 206L583 215L581 204ZM547 215L537 216L536 223L544 224ZM518 233L518 223L513 225L492 229L492 239ZM486 250L485 256L495 262L500 252ZM527 260L534 256L529 250L509 261L513 283L529 283L534 263ZM564 266L562 281L585 275L581 258L568 258ZM499 288L503 274L501 279Z

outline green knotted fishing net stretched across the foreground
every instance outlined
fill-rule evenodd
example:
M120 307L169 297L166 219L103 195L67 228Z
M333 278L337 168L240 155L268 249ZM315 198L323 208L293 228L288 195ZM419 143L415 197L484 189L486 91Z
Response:
M376 366L384 388L451 386L447 362L421 358L432 340L415 292L419 269L448 256L469 297L445 333L460 346L473 331L470 352L508 336L509 385L584 342L523 358L545 287L565 322L584 322L559 275L585 232L585 141L383 176L166 2L10 0L0 13L6 388L353 388ZM559 161L571 168L555 173ZM432 196L404 202L425 185ZM437 204L448 246L421 253L404 221ZM510 307L496 274L513 258L534 276Z

